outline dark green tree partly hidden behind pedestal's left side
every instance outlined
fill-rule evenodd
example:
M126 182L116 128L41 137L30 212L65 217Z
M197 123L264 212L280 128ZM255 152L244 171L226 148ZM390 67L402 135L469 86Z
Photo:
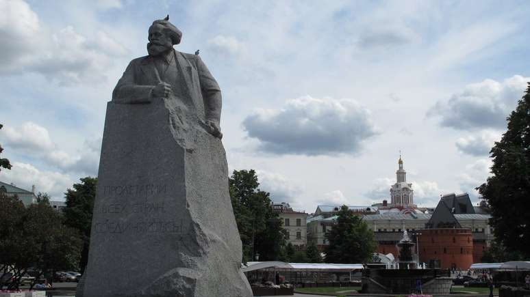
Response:
M66 208L63 208L64 223L68 227L77 229L83 240L83 249L79 260L81 273L88 263L88 248L90 247L90 228L92 227L92 210L96 198L97 178L81 178L73 189L68 188L65 193Z

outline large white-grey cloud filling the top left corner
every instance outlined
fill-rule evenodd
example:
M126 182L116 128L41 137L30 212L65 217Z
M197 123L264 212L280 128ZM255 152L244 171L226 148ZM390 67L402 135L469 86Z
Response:
M0 74L38 72L60 85L99 83L127 50L107 33L86 37L68 25L57 32L22 0L0 0Z

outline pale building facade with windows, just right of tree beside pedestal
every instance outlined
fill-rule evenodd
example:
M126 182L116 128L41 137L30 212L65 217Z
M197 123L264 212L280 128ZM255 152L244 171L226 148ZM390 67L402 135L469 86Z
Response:
M296 249L307 246L307 213L293 210L289 203L273 203L273 210L279 214L286 231L286 240Z

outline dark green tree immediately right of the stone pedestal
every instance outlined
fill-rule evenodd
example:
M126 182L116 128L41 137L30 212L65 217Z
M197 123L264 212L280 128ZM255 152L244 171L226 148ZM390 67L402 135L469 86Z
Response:
M258 188L254 170L235 170L229 178L229 190L243 244L243 262L277 260L285 238L281 220L270 203L269 193Z

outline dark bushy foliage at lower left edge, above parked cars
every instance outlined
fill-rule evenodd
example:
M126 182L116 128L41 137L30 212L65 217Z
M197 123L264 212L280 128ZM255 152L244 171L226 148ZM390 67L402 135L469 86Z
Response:
M18 288L23 274L31 268L36 274L77 269L81 240L75 229L62 225L62 216L46 203L24 208L17 197L0 193L0 274L13 274L14 281L0 283ZM1 278L7 280L7 278Z

